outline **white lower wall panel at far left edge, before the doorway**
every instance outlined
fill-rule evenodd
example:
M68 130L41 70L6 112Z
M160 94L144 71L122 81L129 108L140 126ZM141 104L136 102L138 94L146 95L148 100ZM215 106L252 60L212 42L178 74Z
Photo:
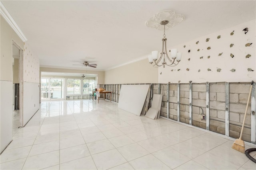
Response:
M12 141L12 81L0 81L0 152Z

